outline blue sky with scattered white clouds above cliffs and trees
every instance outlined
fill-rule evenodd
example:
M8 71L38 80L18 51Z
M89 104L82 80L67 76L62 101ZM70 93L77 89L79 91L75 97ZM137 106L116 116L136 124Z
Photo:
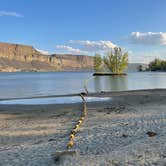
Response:
M130 62L166 58L166 0L0 0L0 42L94 55L121 47Z

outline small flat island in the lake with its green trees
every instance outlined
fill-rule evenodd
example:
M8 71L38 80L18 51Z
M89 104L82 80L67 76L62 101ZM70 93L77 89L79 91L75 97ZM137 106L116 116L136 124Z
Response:
M95 55L93 76L124 76L127 67L128 52L123 53L121 48L115 47L103 58L100 54Z

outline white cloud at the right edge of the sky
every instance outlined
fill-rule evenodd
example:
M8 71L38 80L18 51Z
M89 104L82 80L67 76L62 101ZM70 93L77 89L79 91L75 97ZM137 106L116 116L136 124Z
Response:
M128 41L132 44L166 45L166 32L132 32Z

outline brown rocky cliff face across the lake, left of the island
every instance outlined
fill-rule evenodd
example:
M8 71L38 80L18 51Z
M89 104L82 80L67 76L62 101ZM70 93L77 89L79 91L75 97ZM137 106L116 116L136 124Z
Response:
M0 43L0 71L63 71L92 69L93 57L44 55L32 46Z

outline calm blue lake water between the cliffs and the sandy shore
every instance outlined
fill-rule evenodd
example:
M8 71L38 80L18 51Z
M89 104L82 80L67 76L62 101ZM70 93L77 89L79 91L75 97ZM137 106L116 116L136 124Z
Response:
M91 92L166 88L164 72L133 72L122 77L92 77L90 72L0 73L0 99Z

